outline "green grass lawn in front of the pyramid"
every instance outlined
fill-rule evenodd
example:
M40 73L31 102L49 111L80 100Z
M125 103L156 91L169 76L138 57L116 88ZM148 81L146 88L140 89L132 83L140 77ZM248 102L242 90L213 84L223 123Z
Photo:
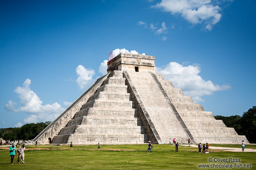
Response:
M251 164L256 169L256 153L234 153L212 150L210 154L199 154L197 148L153 144L153 154L147 154L147 144L138 145L38 145L37 150L25 152L25 164L10 165L8 150L0 148L1 170L198 170L199 164ZM229 146L228 146L229 147ZM29 149L35 145L29 146ZM213 162L209 162L209 158ZM214 158L240 159L241 162L214 162ZM213 170L212 168L211 170ZM236 168L237 169L237 168ZM205 170L205 169L204 169Z

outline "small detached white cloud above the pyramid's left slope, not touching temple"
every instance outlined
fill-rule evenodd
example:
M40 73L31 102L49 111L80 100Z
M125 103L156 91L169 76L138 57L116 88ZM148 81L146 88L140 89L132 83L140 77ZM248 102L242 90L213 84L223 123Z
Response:
M95 71L93 69L87 69L83 65L78 65L76 67L76 74L78 75L76 79L78 86L84 89L93 81L92 77L95 75Z

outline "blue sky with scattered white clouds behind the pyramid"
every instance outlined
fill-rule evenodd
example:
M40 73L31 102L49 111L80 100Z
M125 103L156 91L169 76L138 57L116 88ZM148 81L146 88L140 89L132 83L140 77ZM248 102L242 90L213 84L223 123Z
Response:
M53 121L107 73L110 52L213 115L256 105L255 0L1 0L0 128Z

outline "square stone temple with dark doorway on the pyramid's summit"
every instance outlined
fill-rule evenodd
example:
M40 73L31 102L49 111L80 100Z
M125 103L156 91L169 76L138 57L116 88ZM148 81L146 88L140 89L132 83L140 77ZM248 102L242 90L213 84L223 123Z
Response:
M120 53L108 61L108 73L113 70L154 71L155 56Z

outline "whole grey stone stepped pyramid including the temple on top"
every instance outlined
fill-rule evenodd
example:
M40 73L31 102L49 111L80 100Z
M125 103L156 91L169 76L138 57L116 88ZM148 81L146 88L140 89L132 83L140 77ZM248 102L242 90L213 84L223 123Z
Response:
M249 143L154 72L155 57L121 53L33 141L41 144Z

